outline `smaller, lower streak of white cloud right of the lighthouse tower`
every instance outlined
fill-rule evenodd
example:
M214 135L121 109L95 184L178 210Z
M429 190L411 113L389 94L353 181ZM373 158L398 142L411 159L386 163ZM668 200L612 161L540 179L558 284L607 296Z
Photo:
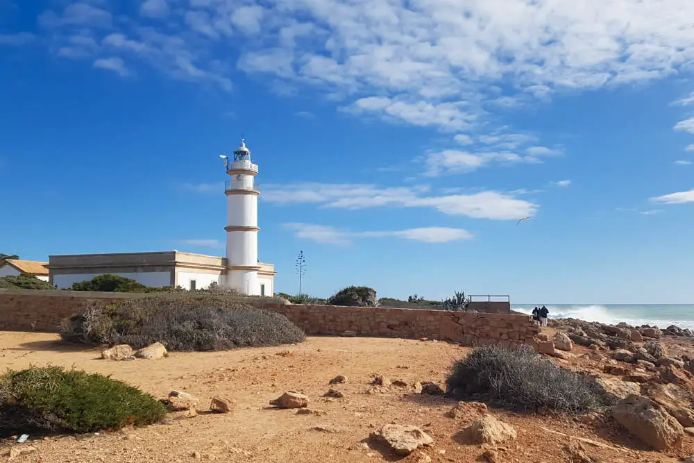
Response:
M348 244L358 237L395 237L426 243L448 243L472 239L474 235L462 228L423 227L397 231L345 231L332 226L315 224L284 224L298 238L310 239L323 244Z

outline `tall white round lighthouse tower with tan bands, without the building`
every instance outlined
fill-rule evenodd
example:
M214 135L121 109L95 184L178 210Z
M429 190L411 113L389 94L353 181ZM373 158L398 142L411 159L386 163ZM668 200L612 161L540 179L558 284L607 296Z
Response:
M257 164L251 160L251 150L244 139L234 151L233 160L226 156L224 165L231 177L224 185L226 192L226 278L222 284L239 289L244 294L260 294L258 283L258 196L255 186Z

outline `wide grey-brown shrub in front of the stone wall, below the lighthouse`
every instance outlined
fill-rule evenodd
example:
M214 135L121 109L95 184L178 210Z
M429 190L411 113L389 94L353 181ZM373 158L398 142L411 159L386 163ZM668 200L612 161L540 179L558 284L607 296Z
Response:
M169 351L278 346L306 338L284 315L214 294L96 301L61 328L62 338L71 342L133 348L161 342Z

